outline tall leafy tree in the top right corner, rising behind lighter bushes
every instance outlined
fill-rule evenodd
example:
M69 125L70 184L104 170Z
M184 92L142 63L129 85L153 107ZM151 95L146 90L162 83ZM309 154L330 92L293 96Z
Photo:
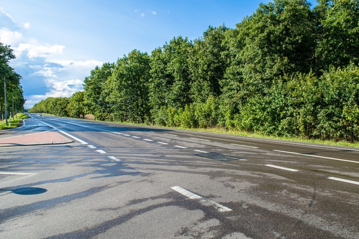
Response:
M316 50L321 68L359 63L359 0L320 1L321 35Z

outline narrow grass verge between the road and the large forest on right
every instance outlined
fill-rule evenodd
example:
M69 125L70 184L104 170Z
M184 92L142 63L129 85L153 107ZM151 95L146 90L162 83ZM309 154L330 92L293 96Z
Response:
M44 114L43 114L44 115ZM49 115L49 114L46 114ZM89 119L85 119L89 120ZM91 121L99 121L99 122L107 122L101 120L94 120ZM1 122L1 121L0 121ZM167 127L167 126L156 126L156 125L148 125L143 123L131 123L131 122L119 122L119 121L108 121L110 123L118 123L118 124L127 124L127 125L141 125L141 126L150 126L154 128L163 128L163 129L178 129L178 130L189 130L194 132L205 132L205 133L215 133L215 134L227 134L233 136L242 136L242 137L250 137L250 138L261 138L261 139L271 139L271 140L285 140L290 142L296 143L307 143L307 144L322 144L322 145L330 145L330 146L338 146L338 147L349 147L349 148L359 148L359 142L348 142L345 140L320 140L320 139L307 139L307 138L300 138L300 137L276 137L276 136L269 136L264 134L257 134L251 133L241 130L233 130L224 128L183 128L183 127ZM11 123L12 126L12 123Z

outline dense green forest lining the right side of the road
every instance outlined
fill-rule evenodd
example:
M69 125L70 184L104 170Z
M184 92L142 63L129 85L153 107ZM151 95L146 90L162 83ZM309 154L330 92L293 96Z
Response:
M31 111L353 142L358 66L359 0L274 0L235 29L210 26L97 66L83 92Z

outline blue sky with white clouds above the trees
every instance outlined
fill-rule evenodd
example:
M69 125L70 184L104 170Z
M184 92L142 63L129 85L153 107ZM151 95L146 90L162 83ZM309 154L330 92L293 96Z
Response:
M133 49L149 54L173 37L194 40L209 25L235 28L270 1L1 0L0 42L23 79L25 108L70 97L95 66Z

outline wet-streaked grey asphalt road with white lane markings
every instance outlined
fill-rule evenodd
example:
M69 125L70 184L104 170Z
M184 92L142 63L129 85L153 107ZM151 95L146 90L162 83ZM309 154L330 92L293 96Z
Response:
M0 238L359 238L359 149L32 115ZM5 135L6 134L6 135Z

